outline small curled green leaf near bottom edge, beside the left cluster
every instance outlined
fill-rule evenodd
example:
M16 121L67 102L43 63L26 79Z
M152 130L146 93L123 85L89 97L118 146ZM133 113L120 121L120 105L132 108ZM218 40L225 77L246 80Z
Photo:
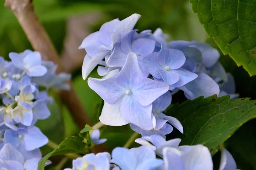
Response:
M52 152L48 153L44 158L42 158L38 163L38 170L44 170L45 162L55 155L64 155L66 153L85 153L85 148L87 144L83 143L82 139L77 136L70 136L66 138L58 147Z

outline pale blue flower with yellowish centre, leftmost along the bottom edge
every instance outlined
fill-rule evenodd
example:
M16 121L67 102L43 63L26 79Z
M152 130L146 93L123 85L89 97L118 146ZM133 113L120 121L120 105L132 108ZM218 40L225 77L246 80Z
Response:
M111 156L107 152L89 153L83 157L73 160L73 168L65 168L64 170L109 170Z

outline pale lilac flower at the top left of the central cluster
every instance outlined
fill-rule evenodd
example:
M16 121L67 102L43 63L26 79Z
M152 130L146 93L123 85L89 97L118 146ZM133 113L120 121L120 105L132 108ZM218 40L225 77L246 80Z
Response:
M82 66L84 80L102 59L110 55L115 44L120 43L122 37L134 28L140 16L140 14L132 14L121 21L112 20L103 24L98 32L84 38L79 46L79 49L85 49L87 52Z

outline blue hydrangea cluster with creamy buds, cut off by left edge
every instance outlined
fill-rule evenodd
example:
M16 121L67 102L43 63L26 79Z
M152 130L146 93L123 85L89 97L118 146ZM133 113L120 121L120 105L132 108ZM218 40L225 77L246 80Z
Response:
M56 75L57 66L39 52L11 52L9 58L0 57L0 169L35 170L39 148L48 143L35 123L50 115L49 88L69 89L70 75Z

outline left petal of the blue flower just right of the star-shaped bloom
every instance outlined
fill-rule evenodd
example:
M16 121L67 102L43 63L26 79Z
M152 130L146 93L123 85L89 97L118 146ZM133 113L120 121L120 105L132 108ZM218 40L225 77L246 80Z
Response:
M155 78L160 79L161 75L157 70L157 67L160 65L157 63L157 52L153 52L150 55L145 56L141 61L143 66L148 70L148 72L153 75Z

